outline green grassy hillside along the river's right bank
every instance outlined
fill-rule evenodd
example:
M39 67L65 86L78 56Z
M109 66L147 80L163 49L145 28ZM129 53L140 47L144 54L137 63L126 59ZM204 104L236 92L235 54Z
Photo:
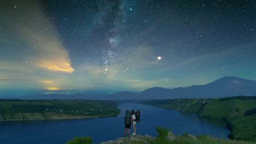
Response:
M144 100L141 103L222 119L231 131L231 139L256 141L256 97Z

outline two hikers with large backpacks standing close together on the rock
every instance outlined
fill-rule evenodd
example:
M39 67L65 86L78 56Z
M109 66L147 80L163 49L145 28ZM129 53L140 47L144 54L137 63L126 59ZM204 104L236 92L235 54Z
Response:
M128 136L130 137L130 129L131 129L131 124L133 127L133 133L132 135L136 135L136 123L139 123L140 118L139 116L141 115L141 111L137 110L136 112L134 110L131 110L131 113L129 110L125 112L125 132L124 132L124 137L126 136L126 131L128 129Z

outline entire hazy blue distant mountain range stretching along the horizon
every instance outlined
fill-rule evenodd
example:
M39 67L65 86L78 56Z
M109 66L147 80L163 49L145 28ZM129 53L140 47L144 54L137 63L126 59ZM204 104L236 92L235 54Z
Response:
M256 81L235 76L226 76L206 85L167 89L153 87L141 93L119 92L114 94L88 95L70 94L65 91L21 96L19 99L90 99L90 100L136 100L136 99L177 99L177 98L220 98L238 95L256 95Z

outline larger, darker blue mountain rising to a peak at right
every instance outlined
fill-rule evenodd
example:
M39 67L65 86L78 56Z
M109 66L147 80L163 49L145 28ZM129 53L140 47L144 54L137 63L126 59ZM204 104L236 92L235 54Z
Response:
M140 95L149 99L220 98L237 95L256 95L256 81L235 76L225 76L206 85L173 89L153 87L141 92Z

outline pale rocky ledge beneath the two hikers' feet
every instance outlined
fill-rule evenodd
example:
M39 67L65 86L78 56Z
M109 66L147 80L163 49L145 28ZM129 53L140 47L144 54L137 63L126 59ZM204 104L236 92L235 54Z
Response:
M121 137L116 140L110 140L106 142L102 142L101 144L125 144L125 143L144 143L148 144L149 141L156 140L155 137L149 135L134 135L131 137Z

